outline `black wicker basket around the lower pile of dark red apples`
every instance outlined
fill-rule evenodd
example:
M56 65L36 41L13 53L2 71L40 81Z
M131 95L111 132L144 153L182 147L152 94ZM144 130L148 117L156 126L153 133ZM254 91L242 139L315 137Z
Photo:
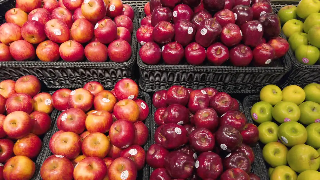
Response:
M241 102L239 102L239 107L240 107L240 111L244 112L244 108L243 108L243 105L241 104ZM151 129L151 144L155 144L154 134L157 129L157 125L156 125L156 122L154 119L155 113L156 113L156 108L152 105L152 121L151 121L151 128L150 128ZM253 123L252 119L251 120L248 119L248 122ZM261 180L269 180L266 165L264 163L261 163L261 162L264 162L264 160L262 157L262 151L261 151L260 145L256 144L254 147L252 147L252 150L255 154L255 158L254 158L254 162L252 164L251 172L256 174L257 176L259 176ZM150 175L153 171L154 171L154 169L150 168Z

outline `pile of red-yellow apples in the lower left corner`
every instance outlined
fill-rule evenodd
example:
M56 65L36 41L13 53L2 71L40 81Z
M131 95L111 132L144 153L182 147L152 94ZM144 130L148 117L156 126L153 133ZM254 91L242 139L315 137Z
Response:
M0 179L31 179L35 173L38 136L50 129L53 110L52 96L40 90L31 75L0 83Z

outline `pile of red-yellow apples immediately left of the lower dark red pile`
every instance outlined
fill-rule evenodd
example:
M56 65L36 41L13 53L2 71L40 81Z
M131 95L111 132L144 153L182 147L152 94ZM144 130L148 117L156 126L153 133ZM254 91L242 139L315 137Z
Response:
M143 123L149 107L138 94L131 79L120 80L112 91L95 81L74 91L56 91L53 105L63 112L49 143L53 155L40 171L42 179L135 180L145 166L141 146L149 136Z

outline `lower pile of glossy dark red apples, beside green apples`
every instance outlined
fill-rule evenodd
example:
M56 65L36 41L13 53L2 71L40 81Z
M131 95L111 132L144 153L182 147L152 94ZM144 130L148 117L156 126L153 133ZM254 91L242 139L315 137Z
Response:
M150 180L260 180L251 174L259 130L239 103L212 87L172 86L154 94L155 143L147 163Z

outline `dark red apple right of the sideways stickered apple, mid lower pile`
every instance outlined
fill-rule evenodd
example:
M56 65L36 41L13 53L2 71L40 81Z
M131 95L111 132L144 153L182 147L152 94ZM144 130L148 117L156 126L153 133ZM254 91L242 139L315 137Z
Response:
M197 128L189 135L192 149L198 153L212 151L215 145L214 135L206 128Z

